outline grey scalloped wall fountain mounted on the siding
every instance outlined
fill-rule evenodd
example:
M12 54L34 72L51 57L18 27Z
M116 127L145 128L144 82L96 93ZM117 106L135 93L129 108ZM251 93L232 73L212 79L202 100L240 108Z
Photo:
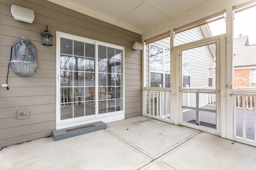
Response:
M19 76L32 76L36 71L36 48L26 37L12 45L10 64L13 71Z

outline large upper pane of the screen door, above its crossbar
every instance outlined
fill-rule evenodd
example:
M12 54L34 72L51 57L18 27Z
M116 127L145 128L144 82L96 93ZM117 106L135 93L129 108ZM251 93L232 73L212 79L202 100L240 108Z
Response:
M182 88L216 90L215 84L208 84L208 62L216 63L216 43L183 50ZM213 65L211 76L215 80L216 64Z

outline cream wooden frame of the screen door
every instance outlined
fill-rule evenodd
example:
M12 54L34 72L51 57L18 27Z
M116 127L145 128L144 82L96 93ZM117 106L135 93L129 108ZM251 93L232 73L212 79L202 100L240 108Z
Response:
M191 123L182 122L182 57L181 52L185 49L191 49L195 47L200 47L203 45L208 45L216 43L216 129L211 129L208 127L202 127L198 125L194 125ZM199 41L195 41L192 43L187 43L184 45L179 45L174 47L174 54L176 54L177 58L177 72L176 76L178 80L178 87L176 88L177 98L179 101L179 116L177 116L176 122L180 125L185 125L188 127L192 127L194 129L198 129L201 131L207 131L210 133L214 133L217 135L224 134L226 137L226 37L225 35L218 35L215 37L210 37L207 39L202 39ZM213 90L210 90L213 91Z

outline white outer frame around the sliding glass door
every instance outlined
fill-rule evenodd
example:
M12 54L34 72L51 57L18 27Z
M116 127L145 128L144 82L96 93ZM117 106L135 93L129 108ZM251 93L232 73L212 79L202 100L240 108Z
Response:
M96 111L96 113L94 115L88 115L88 116L83 116L83 117L76 117L76 118L70 118L70 119L60 119L60 37L64 37L67 39L72 39L72 40L76 40L76 41L82 41L82 42L88 42L91 44L95 45L95 55L97 56L98 54L98 48L96 47L97 45L105 45L107 47L113 47L116 49L121 49L123 51L123 58L122 58L122 62L123 62L123 66L122 66L122 75L123 75L123 90L122 90L122 96L123 96L123 100L122 100L122 110L121 111L114 111L114 112L110 112L110 113L103 113L103 114L98 114L98 111ZM86 123L92 123L92 122L96 122L96 121L103 121L104 123L110 123L113 121L119 121L124 119L124 113L125 113L125 96L124 96L124 47L122 46L118 46L118 45L114 45L114 44L110 44L110 43L105 43L105 42L101 42L101 41L96 41L93 39L88 39L85 37L80 37L77 35L72 35L72 34L68 34L68 33L63 33L60 31L56 31L56 129L63 129L66 127L73 127L73 126L77 126L77 125L82 125L82 124L86 124ZM96 68L97 69L97 63L98 63L98 58L95 57L96 59ZM98 71L95 71L95 75L98 74ZM96 77L98 77L96 75ZM98 90L98 80L96 79L95 81L95 87L96 87L96 92ZM97 96L97 95L96 95ZM96 98L97 99L97 98ZM96 109L97 109L97 104L96 105Z

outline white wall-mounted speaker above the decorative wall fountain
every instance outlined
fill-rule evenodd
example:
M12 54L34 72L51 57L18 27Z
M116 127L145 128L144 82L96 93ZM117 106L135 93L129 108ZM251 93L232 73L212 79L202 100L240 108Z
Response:
M34 21L35 15L33 10L12 5L11 11L12 11L12 16L15 20L28 22L28 23L32 23Z

